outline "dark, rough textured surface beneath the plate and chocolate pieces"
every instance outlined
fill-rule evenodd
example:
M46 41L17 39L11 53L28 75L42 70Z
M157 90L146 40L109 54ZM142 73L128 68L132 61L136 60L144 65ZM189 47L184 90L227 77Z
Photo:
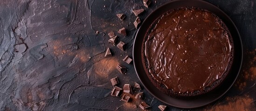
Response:
M146 8L143 0L0 0L0 111L140 111L110 95L110 79L118 76L120 87L140 84L133 65L122 59L132 57L137 32L132 10L145 9L143 21L170 0L151 1ZM241 74L225 97L210 105L167 110L256 111L256 0L207 1L226 12L241 34ZM126 37L117 33L122 27ZM126 43L125 51L108 43L111 31ZM113 56L104 57L107 48ZM128 68L126 75L117 64ZM144 88L141 92L149 110L164 105Z

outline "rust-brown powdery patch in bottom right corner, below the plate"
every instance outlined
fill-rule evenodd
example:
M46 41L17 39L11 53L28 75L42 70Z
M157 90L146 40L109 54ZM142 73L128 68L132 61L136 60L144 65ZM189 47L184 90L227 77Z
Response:
M251 111L254 108L253 99L249 96L226 97L225 103L220 102L205 111Z

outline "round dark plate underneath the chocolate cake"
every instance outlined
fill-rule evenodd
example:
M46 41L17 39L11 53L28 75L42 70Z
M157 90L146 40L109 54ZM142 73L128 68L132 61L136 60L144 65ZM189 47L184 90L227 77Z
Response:
M227 78L222 82L220 86L216 87L214 90L208 93L205 93L199 96L186 97L185 99L176 99L164 93L161 93L151 83L142 65L141 49L143 45L142 44L143 39L145 37L145 32L147 31L151 23L163 13L170 11L174 8L179 8L184 6L195 6L195 7L206 9L216 14L227 25L228 30L230 31L234 41L235 52L234 52L234 62L230 70L230 73L227 75ZM172 105L180 108L201 107L203 105L207 105L219 99L234 84L242 65L242 42L241 42L239 32L237 31L232 20L228 17L228 15L226 15L218 7L203 0L173 0L171 2L168 2L160 6L154 12L152 12L144 20L144 22L138 29L137 35L135 37L134 45L133 45L133 61L134 61L134 67L139 80L141 81L143 86L148 90L148 92L151 93L155 98L159 99L160 101L164 102L167 105Z

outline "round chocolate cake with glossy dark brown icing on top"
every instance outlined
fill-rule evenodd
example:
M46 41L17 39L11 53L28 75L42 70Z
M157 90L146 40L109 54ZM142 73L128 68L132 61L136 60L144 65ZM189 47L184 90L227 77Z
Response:
M145 34L144 69L160 91L171 96L207 93L227 76L233 40L214 13L181 7L156 19Z

